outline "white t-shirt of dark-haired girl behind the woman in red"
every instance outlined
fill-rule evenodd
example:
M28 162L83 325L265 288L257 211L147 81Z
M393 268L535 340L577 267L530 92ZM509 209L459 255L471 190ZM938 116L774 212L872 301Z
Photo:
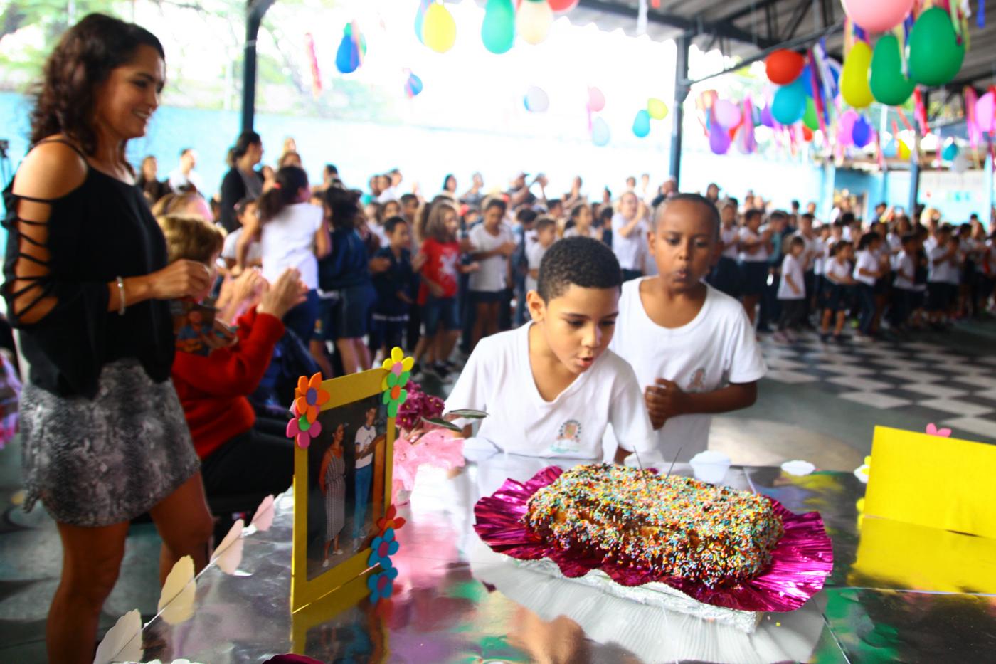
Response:
M309 290L318 288L315 233L322 227L322 208L307 202L293 203L263 224L263 276L276 283L287 268L301 272Z

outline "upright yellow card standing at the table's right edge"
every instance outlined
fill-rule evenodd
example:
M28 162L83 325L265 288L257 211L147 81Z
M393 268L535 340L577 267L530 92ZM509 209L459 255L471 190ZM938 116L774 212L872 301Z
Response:
M996 537L996 446L875 427L865 513Z

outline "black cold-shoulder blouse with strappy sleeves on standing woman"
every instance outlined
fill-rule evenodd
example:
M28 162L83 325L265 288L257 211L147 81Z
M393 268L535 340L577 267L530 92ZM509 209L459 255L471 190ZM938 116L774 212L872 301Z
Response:
M58 143L79 152L69 143ZM3 223L9 232L3 296L11 323L21 330L21 351L31 365L29 380L59 396L93 399L103 366L125 358L138 360L154 382L169 378L174 342L168 302L129 305L124 316L108 311L109 282L166 266L165 239L138 187L89 164L83 183L59 198L19 196L13 187L11 180L3 191ZM48 219L23 218L18 214L20 200L49 205ZM43 245L28 230L21 232L22 227L39 225L48 226L47 261L26 253L30 244ZM18 275L19 260L32 261L47 273ZM20 282L17 290L15 279ZM21 294L23 306L16 311L14 300ZM46 297L56 299L55 308L37 322L22 322Z

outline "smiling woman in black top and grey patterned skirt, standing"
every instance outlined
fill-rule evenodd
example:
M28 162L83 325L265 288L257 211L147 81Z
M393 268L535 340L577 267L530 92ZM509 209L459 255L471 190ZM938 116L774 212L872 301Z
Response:
M162 232L124 158L165 77L159 41L92 14L49 57L32 113L35 148L4 190L4 297L30 364L21 398L26 508L55 517L63 570L47 623L49 661L93 659L128 521L148 511L160 580L183 555L207 563L212 521L169 381L166 300L208 284L166 266Z

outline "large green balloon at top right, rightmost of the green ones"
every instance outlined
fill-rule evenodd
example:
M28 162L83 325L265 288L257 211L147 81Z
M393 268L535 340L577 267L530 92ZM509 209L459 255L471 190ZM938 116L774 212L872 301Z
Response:
M906 40L909 78L925 86L942 86L961 70L965 44L958 43L951 16L940 7L926 10Z

